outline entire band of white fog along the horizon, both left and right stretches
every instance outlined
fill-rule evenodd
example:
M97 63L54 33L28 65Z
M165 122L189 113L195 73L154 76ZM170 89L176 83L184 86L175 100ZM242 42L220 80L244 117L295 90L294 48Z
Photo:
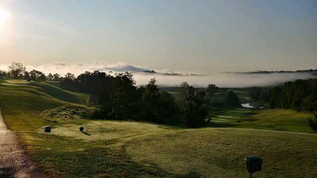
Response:
M7 66L9 64L0 64L0 70L7 71ZM46 75L49 73L58 73L64 76L67 72L73 73L76 76L84 73L85 71L100 70L108 73L108 71L124 72L131 71L134 75L134 79L137 85L148 84L151 78L156 78L158 80L158 85L160 87L174 87L178 86L181 82L188 82L194 87L206 87L208 84L216 84L221 88L244 88L244 87L264 87L271 86L287 81L294 81L297 79L309 79L316 78L312 73L270 73L270 74L234 74L234 73L217 73L209 74L205 76L172 76L172 75L162 75L159 73L143 73L137 71L150 70L144 66L137 66L132 64L126 64L122 62L114 64L106 64L102 61L92 62L91 64L83 63L68 63L68 62L53 62L48 64L43 64L40 66L26 66L28 71L32 69L44 72ZM166 72L169 70L155 70L157 72ZM109 74L109 73L108 73Z

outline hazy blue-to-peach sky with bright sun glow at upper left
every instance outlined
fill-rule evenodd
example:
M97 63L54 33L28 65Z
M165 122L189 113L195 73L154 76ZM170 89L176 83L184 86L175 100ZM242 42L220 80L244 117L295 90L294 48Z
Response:
M317 68L317 0L0 0L0 64Z

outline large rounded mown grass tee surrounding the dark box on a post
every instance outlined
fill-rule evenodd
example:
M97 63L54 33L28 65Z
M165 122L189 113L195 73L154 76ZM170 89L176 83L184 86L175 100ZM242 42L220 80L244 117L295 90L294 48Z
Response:
M316 134L205 128L137 138L128 142L127 152L133 161L193 177L246 178L244 157L259 155L263 170L255 178L314 178L316 138Z

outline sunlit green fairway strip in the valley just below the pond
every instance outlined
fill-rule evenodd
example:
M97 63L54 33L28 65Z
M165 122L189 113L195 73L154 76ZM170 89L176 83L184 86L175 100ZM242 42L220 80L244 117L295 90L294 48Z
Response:
M212 108L209 118L212 118L209 127L314 133L308 124L308 118L314 118L313 113L291 109Z

